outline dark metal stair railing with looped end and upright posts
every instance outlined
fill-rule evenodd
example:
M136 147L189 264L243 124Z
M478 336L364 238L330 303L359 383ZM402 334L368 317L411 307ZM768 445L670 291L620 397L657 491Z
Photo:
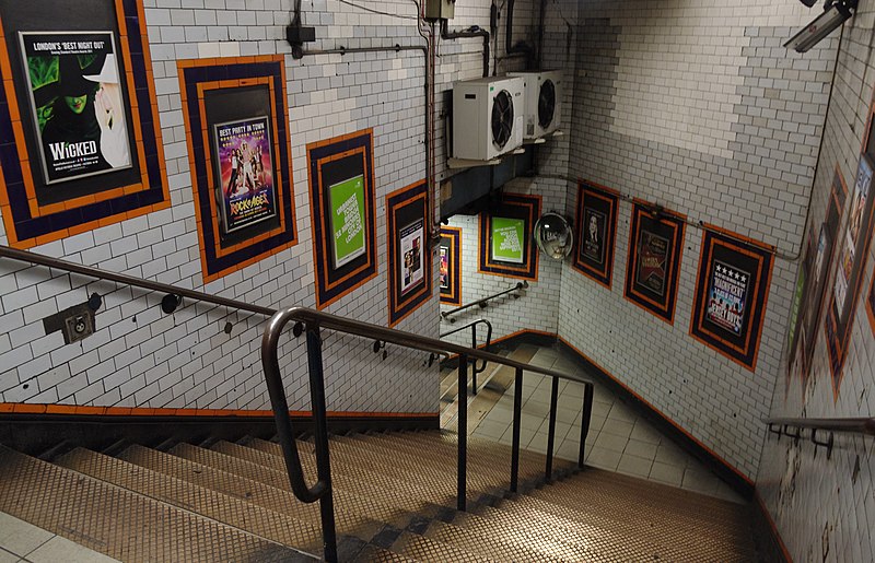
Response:
M310 366L311 380L311 401L313 404L313 417L316 419L316 433L314 436L316 459L317 459L317 481L312 488L307 488L304 481L304 471L298 455L298 445L293 439L294 433L291 430L289 408L285 400L285 392L282 386L282 375L279 365L278 345L280 336L284 327L294 321L293 333L300 336L307 333L307 365ZM522 390L524 372L539 373L552 377L552 388L550 396L550 422L547 437L547 455L545 466L545 479L550 481L553 473L553 446L556 441L556 414L559 399L559 379L569 379L584 385L584 396L582 406L581 421L581 443L578 457L578 467L583 468L585 456L586 436L590 431L590 418L593 407L593 383L578 376L548 370L540 366L518 362L509 357L503 357L488 351L477 350L476 348L465 348L439 339L423 337L411 332L389 329L377 325L371 325L359 320L352 320L327 313L320 313L304 307L292 307L281 310L271 317L265 329L261 339L261 363L265 368L265 378L268 382L268 391L273 407L273 415L277 421L277 429L280 445L285 459L285 467L289 472L289 480L295 496L302 502L320 502L320 513L323 518L323 541L326 561L337 560L337 538L335 535L334 503L331 500L331 479L328 435L325 431L325 423L318 419L325 417L325 382L323 379L323 357L322 357L322 330L334 330L347 335L354 335L365 339L377 339L382 342L421 350L438 354L457 354L459 359L458 388L464 389L468 380L468 365L471 360L486 360L497 364L508 365L516 370L516 388L514 390L514 414L513 414L513 443L511 453L511 491L516 492L518 488L520 473L520 430L522 419ZM468 456L468 401L466 394L459 394L458 402L458 460L456 474L456 507L459 511L467 508L467 456ZM318 460L323 460L318 462ZM299 494L301 493L301 494Z

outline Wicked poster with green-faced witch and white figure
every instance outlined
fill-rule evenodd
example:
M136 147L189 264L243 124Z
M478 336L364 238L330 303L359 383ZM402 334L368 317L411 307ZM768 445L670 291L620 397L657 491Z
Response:
M19 34L46 185L131 165L112 32Z

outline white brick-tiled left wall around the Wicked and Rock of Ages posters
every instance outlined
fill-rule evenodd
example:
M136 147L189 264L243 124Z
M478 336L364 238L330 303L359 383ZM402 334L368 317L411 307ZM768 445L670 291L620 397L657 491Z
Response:
M318 37L307 47L424 45L415 1L353 3L372 11L337 0L303 2L304 24L315 26ZM247 303L312 307L305 145L372 127L380 273L327 310L385 326L383 203L388 192L425 175L425 58L413 50L294 60L284 40L292 5L292 0L144 0L173 206L33 250ZM203 286L176 61L269 54L285 55L300 243ZM466 59L447 55L447 60ZM0 243L8 243L4 233ZM164 315L162 295L8 260L0 261L0 402L269 408L259 356L265 322L258 316L190 302ZM43 317L92 292L104 296L93 337L63 345L59 332L45 335ZM435 292L399 328L436 336L438 313ZM425 365L428 354L389 347L382 360L369 352L370 341L324 337L329 410L436 412L438 372ZM284 341L281 365L290 407L308 409L303 343Z

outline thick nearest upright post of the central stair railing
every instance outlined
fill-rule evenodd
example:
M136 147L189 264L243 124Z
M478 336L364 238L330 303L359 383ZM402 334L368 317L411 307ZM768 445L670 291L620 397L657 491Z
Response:
M331 464L328 459L328 427L325 420L325 380L322 363L322 337L319 329L307 330L307 365L310 367L310 394L313 408L316 442L316 469L319 481L325 483L325 494L319 499L322 538L325 561L337 561L337 532L335 531L335 505L331 490Z

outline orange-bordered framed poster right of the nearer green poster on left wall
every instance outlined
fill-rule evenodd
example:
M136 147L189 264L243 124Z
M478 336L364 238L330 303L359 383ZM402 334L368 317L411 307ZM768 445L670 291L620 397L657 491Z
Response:
M389 326L394 327L432 295L424 180L386 196Z

